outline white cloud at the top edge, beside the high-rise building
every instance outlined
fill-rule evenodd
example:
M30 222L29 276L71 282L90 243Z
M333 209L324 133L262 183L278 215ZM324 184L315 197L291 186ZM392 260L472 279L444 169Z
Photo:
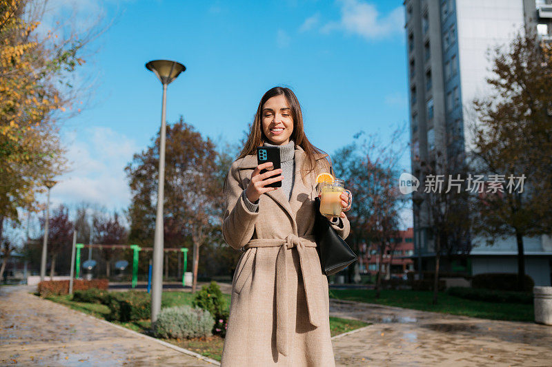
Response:
M326 23L320 32L329 33L341 30L349 34L357 34L364 39L382 39L393 34L402 33L404 13L402 7L397 7L387 15L377 11L372 3L362 0L339 0L341 19Z

